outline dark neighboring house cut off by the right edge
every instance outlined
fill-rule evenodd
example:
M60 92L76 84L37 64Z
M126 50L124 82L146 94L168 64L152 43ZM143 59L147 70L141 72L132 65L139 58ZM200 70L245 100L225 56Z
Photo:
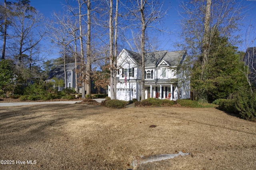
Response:
M249 47L246 50L243 61L250 69L248 78L256 86L256 47Z

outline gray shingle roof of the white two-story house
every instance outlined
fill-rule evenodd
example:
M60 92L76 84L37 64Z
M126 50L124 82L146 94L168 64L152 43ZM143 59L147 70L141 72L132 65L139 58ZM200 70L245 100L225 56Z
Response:
M141 55L139 53L125 49L128 55L140 63ZM178 66L184 60L186 56L186 51L156 51L145 54L145 67L154 67L157 66L161 61L166 61L170 66Z

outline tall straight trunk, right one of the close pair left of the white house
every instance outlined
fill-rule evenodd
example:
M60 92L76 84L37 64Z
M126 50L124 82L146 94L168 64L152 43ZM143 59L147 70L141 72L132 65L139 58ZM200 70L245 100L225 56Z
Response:
M91 95L91 4L87 1L87 43L86 43L86 95Z

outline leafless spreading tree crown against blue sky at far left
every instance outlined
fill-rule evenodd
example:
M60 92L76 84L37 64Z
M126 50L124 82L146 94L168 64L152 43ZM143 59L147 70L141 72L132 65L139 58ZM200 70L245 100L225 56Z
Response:
M18 65L22 63L22 57L28 55L29 50L36 47L44 37L46 31L43 27L43 16L29 4L21 2L12 5L14 21L12 27L14 35L12 42L17 49ZM33 39L30 39L33 35ZM32 40L32 43L31 43Z

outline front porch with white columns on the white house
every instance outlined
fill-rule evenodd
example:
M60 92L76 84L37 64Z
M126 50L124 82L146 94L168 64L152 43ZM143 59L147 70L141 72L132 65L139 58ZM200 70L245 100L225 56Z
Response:
M145 99L178 99L177 84L145 85Z

